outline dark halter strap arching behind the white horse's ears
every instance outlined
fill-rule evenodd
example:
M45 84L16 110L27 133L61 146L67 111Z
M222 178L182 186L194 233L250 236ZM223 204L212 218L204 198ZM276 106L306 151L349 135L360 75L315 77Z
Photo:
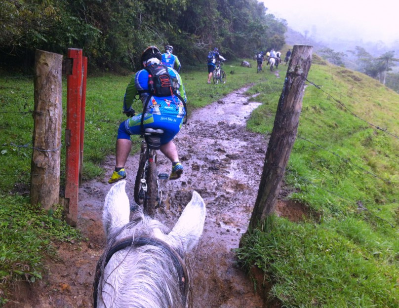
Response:
M173 261L173 265L177 269L177 274L179 275L179 287L182 293L182 303L183 307L187 303L188 292L189 292L189 275L187 272L186 264L180 255L172 248L169 244L160 240L159 238L154 237L138 237L134 240L132 238L123 238L115 243L108 251L107 255L102 255L97 262L94 282L93 282L93 307L97 308L97 295L98 295L98 284L101 278L101 266L104 262L104 269L110 261L111 257L117 252L127 247L141 247L141 246L156 246L158 248L163 249L165 252L169 254L169 257Z

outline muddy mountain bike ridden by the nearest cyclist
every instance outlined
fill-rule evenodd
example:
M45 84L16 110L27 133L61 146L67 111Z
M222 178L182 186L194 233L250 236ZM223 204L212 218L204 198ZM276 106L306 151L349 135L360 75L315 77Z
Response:
M154 217L155 210L160 207L162 191L158 179L166 180L167 173L158 174L157 150L160 149L162 129L146 128L141 142L140 161L134 183L134 200L143 205L144 213Z

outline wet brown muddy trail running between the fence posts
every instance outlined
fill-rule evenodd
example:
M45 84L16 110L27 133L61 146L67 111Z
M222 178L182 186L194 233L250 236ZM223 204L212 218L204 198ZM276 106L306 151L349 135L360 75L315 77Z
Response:
M192 113L175 138L184 165L182 177L160 180L163 207L156 219L173 227L192 192L199 192L207 207L199 245L189 254L193 307L263 308L250 278L240 269L233 249L247 230L267 149L264 136L248 132L245 123L259 103L248 102L244 87ZM159 172L170 172L170 162L159 154ZM92 307L92 282L96 262L105 243L101 222L108 176L114 157L104 163L106 178L81 185L78 228L87 242L59 243L59 260L48 260L49 274L35 286L16 288L15 301L6 307ZM138 154L125 169L126 189L133 201ZM284 203L278 210L284 212ZM299 214L301 217L301 214Z

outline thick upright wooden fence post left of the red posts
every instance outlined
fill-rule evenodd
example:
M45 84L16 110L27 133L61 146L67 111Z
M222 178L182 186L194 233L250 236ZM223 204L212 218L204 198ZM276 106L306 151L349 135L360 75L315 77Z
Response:
M59 203L62 126L62 55L36 50L31 204Z

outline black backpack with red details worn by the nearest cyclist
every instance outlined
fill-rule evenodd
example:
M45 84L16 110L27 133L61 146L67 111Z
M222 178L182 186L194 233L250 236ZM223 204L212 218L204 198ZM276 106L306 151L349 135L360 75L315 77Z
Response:
M184 110L186 112L186 119L184 124L187 122L187 107L184 99L177 94L177 88L173 85L173 80L169 75L169 71L165 65L153 64L144 68L148 72L148 90L139 91L139 94L148 93L148 97L143 106L143 113L141 114L141 132L144 132L144 114L147 110L148 103L152 95L157 97L163 96L177 96L178 99L183 103Z

